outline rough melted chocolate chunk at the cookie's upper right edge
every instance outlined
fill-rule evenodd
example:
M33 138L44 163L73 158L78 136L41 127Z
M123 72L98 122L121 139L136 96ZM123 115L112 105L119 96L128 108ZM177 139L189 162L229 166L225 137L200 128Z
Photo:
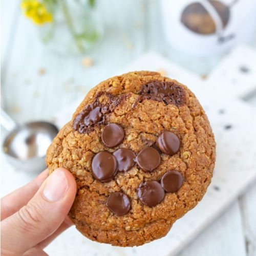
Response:
M180 106L185 102L185 91L174 82L152 81L144 84L139 93L147 99Z

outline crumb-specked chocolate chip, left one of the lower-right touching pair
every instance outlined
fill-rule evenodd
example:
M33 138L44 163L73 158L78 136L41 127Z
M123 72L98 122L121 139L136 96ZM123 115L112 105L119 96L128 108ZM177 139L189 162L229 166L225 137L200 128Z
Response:
M138 188L138 197L143 204L155 206L164 198L164 190L155 180L141 183Z

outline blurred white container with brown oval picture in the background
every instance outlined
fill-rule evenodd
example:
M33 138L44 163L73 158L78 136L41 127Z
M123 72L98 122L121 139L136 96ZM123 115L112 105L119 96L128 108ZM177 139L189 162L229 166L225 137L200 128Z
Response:
M252 39L255 0L161 0L168 42L197 56L221 54Z

